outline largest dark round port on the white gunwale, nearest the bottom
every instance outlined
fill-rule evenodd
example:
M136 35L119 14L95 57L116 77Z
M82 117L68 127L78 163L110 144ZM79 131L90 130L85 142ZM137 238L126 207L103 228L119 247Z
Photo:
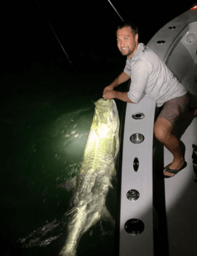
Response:
M125 222L124 229L130 235L140 235L144 230L144 224L138 218L130 218Z

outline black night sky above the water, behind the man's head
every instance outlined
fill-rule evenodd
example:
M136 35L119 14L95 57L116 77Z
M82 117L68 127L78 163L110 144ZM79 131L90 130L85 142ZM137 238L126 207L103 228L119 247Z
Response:
M196 4L194 1L179 5L172 1L158 5L155 1L111 2L124 20L135 21L140 27L140 42L145 44L168 21ZM2 6L1 12L5 14L1 17L3 69L24 61L47 62L57 56L67 60L49 24L78 70L97 70L100 74L125 63L115 38L115 28L121 18L107 0L22 0L6 1ZM69 62L67 64L69 66Z

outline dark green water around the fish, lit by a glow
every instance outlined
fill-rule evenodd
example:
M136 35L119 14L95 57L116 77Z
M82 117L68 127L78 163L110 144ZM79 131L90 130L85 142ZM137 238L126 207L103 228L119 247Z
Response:
M6 256L60 252L73 193L58 185L78 174L93 102L117 74L76 73L60 60L10 65L1 74L0 221ZM121 118L123 103L116 103ZM113 185L107 208L115 219L117 179ZM99 221L82 237L77 255L114 255L114 235L110 223Z

